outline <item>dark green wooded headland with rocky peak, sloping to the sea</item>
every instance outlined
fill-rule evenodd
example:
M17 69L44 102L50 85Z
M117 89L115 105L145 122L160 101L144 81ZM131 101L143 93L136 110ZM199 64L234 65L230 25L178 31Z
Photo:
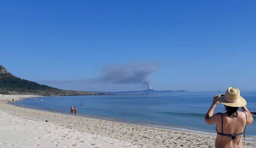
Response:
M106 95L88 91L62 90L16 77L0 65L0 94L3 95Z

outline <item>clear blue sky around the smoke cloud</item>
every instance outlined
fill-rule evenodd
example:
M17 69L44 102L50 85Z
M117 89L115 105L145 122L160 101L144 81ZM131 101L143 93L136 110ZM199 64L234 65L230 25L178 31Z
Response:
M155 63L154 89L256 90L256 1L0 5L0 64L23 79L62 89L137 90L145 86L76 82L98 77L108 64Z

